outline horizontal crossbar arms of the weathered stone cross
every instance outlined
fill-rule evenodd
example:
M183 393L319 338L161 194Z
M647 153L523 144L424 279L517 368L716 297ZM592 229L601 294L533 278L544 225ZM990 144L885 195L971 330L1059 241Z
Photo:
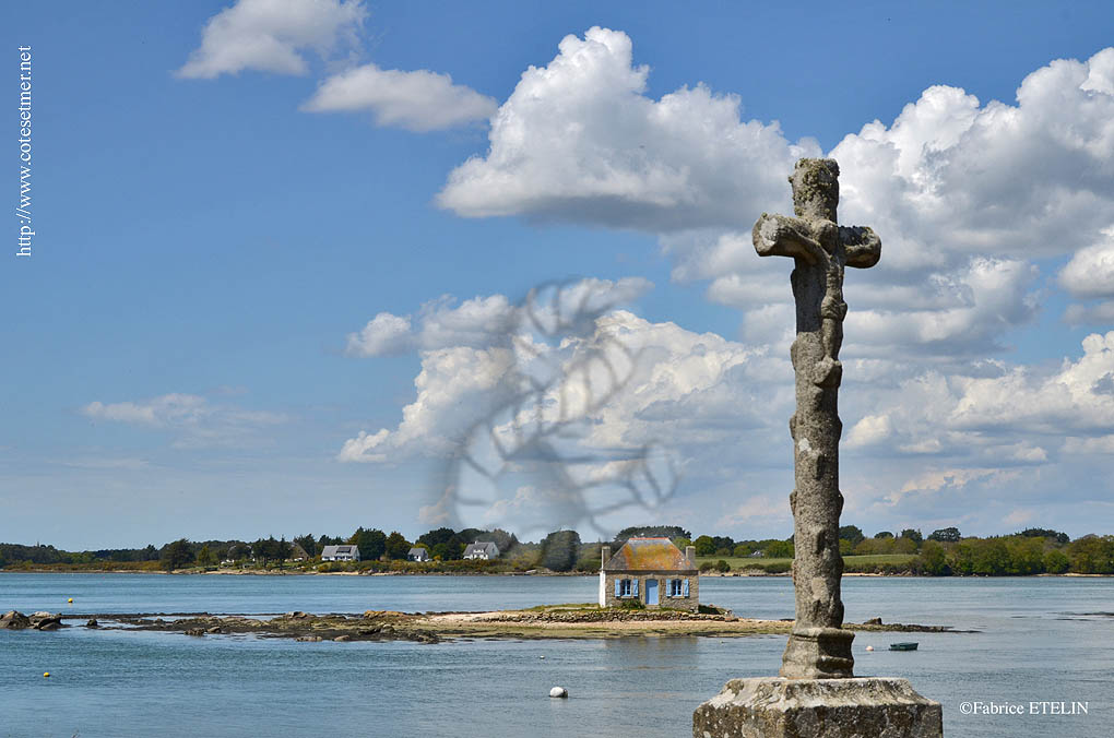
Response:
M867 226L837 226L831 220L809 222L784 215L762 214L751 234L759 256L791 256L809 264L823 263L843 246L846 264L866 269L878 264L882 242Z

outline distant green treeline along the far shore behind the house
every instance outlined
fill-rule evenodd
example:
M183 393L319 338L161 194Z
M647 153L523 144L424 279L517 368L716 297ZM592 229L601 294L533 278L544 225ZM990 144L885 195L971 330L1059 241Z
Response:
M641 525L619 531L610 541L585 543L573 530L554 531L540 542L521 542L514 533L496 529L469 528L456 531L437 528L409 541L398 531L384 533L375 528L358 528L351 535L297 535L286 540L189 541L178 539L156 548L63 551L52 545L0 543L0 567L77 568L104 570L175 570L219 565L283 568L292 562L303 569L355 568L369 570L419 570L407 562L413 548L424 548L431 559L422 571L463 571L476 568L527 571L596 571L600 547L613 551L633 535L667 537L684 550L693 545L704 559L702 569L763 570L768 573L789 569L793 558L792 537L788 539L733 540L726 535L698 535L678 525ZM868 538L857 525L839 530L840 553L856 557L847 571L911 573L927 575L1010 575L1042 573L1114 574L1114 535L1084 535L1074 541L1066 533L1030 528L1012 535L964 537L957 528L935 530L927 537L906 529L897 534L880 531ZM492 541L499 548L495 562L461 561L465 548L473 541ZM326 545L355 544L362 561L358 564L322 563ZM902 555L893 555L902 554ZM719 560L716 560L719 559ZM731 560L731 561L729 561ZM742 560L742 561L741 561ZM776 560L776 561L771 561Z

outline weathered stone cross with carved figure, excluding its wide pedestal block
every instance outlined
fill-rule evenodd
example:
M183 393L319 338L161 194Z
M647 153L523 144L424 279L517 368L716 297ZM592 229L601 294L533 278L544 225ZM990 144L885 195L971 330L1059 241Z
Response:
M791 679L851 677L854 633L842 629L840 578L839 420L837 395L843 366L843 267L868 268L881 242L864 227L837 225L839 165L801 159L789 181L795 218L762 214L754 224L759 256L793 257L797 340L791 351L797 375L797 412L789 421L794 444L793 588L797 622L782 657Z

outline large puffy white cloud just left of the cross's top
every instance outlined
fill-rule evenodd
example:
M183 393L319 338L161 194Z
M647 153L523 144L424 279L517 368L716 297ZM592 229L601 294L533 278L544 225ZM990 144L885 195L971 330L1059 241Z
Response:
M491 120L490 149L450 175L458 215L521 215L644 230L740 225L788 203L786 173L814 141L744 122L734 95L684 87L654 100L631 38L592 28L530 67ZM747 224L749 225L749 224Z

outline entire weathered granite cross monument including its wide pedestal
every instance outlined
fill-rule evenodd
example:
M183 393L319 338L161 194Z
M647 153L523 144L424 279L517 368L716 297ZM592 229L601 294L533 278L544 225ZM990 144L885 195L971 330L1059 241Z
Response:
M791 256L797 301L793 437L793 591L797 620L781 677L733 679L693 714L694 738L937 738L939 702L905 679L856 679L843 630L839 552L838 392L843 377L843 269L871 267L881 242L870 228L837 225L839 166L801 159L789 181L795 218L762 214L754 224L759 256Z

